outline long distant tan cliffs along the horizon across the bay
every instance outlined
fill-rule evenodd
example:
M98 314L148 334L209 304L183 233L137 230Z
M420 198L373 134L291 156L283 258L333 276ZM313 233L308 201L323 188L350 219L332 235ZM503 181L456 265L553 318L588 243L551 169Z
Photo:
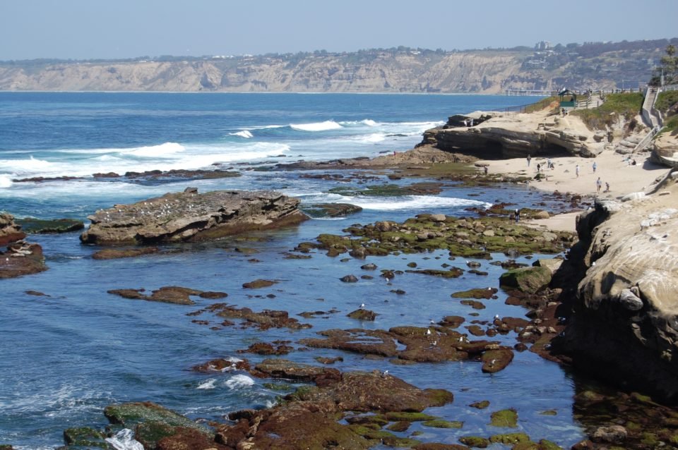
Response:
M477 92L638 86L667 39L547 51L366 50L125 61L0 61L0 90Z

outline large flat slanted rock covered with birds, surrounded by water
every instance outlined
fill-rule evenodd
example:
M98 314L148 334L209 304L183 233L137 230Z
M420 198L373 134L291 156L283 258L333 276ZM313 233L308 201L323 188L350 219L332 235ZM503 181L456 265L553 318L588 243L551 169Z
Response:
M307 219L299 200L273 191L168 193L131 205L100 209L83 243L100 245L203 241L243 231L273 229Z

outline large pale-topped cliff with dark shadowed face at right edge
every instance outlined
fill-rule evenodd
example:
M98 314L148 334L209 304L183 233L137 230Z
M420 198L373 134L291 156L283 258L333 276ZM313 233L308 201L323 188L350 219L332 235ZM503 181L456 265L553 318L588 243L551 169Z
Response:
M578 217L585 276L561 340L573 363L678 401L678 173ZM559 343L560 346L560 343Z

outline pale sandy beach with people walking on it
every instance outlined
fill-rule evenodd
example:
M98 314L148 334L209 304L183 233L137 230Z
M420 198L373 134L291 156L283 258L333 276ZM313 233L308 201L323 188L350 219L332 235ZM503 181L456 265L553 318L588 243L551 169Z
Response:
M487 164L490 173L518 174L535 176L537 164L547 179L530 182L530 186L549 192L578 193L598 195L601 198L615 199L628 193L646 191L653 187L657 178L663 178L670 169L650 162L649 154L635 155L636 165L629 164L625 155L605 151L595 158L558 157L552 158L553 169L546 169L547 158L533 157L528 166L527 159L483 160L476 164ZM596 164L595 173L593 163ZM579 176L576 166L579 166ZM596 181L600 177L602 187L596 193ZM605 192L605 183L609 183L609 192ZM575 231L575 218L578 212L558 214L549 219L527 221L525 223L545 226L547 229Z

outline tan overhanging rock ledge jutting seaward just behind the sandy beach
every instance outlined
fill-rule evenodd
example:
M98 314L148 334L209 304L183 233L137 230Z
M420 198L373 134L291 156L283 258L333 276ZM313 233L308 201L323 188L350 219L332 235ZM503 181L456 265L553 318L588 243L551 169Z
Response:
M456 116L424 133L420 145L470 154L482 159L531 156L595 157L605 143L573 116L541 113L473 113L473 126L459 126Z

